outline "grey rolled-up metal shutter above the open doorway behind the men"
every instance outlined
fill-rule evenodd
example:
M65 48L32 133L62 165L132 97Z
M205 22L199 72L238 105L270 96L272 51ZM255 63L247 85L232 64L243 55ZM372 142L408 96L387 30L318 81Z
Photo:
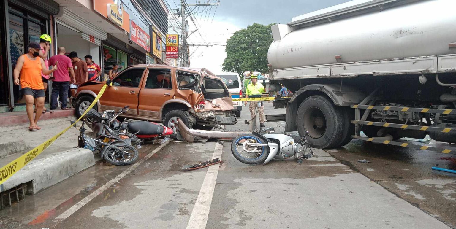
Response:
M93 25L88 20L85 20L83 17L73 13L68 10L66 7L60 6L60 13L56 15L57 23L66 24L73 28L80 30L83 34L87 36L91 35L98 39L98 45L100 45L100 40L108 39L108 33L99 29L98 26ZM84 38L84 37L83 37ZM85 38L84 38L85 39ZM90 41L88 39L88 41ZM93 42L95 43L95 42Z

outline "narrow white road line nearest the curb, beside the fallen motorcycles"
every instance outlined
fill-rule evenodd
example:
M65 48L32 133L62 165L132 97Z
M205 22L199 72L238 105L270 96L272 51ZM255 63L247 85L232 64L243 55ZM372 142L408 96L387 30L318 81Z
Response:
M106 189L111 187L114 183L118 182L120 179L124 178L128 173L131 173L135 168L141 165L145 160L149 159L152 157L155 153L157 153L161 148L165 147L171 140L168 140L161 144L159 147L157 147L154 151L150 152L147 154L144 158L141 158L137 163L133 164L130 166L130 168L127 168L124 172L120 173L117 177L114 179L108 181L108 183L105 183L103 186L95 190L93 193L90 193L90 195L86 196L83 198L81 201L79 201L77 204L74 204L71 208L67 209L65 212L60 214L59 216L56 217L56 220L52 221L54 223L57 223L59 221L62 221L64 219L67 219L70 215L81 209L84 205L88 204L93 198L97 197L99 194L103 193Z

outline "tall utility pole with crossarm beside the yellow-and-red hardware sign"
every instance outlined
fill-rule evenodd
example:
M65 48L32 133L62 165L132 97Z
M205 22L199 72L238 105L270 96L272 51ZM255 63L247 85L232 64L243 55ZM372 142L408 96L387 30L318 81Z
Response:
M181 18L182 18L182 35L181 35L181 41L182 41L182 62L181 62L181 66L183 67L188 67L189 66L189 63L190 63L190 55L188 55L188 51L189 51L189 46L192 46L192 45L189 45L187 43L187 37L189 35L188 34L188 31L187 31L187 15L186 15L186 6L209 6L209 5L220 5L220 0L217 0L216 3L211 3L210 0L207 0L207 3L198 3L198 4L190 4L188 5L185 0L181 0ZM196 32L193 31L192 33ZM191 33L191 34L192 34ZM190 35L191 35L190 34Z

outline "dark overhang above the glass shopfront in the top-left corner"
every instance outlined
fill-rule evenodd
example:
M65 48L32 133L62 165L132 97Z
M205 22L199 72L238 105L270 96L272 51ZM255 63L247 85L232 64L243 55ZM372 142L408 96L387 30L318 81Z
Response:
M60 10L58 3L53 0L9 0L9 2L27 10L33 10L33 13L45 18L49 18L49 15L57 15Z

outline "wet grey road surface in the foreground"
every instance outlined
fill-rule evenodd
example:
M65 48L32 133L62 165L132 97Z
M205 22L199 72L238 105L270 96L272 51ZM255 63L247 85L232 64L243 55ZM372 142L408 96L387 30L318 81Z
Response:
M265 103L267 114L285 112L271 106ZM246 131L244 119L249 119L248 110L227 129ZM280 133L284 124L266 125ZM143 146L141 156L158 145ZM224 142L217 173L179 168L211 159L220 151L217 145L170 142L67 219L56 220L127 169L98 163L1 210L0 227L197 228L201 222L193 219L201 218L193 217L205 209L206 228L218 229L456 226L456 174L430 169L437 163L454 169L454 156L357 140L315 150L316 157L302 164L291 159L250 166L238 162L230 142ZM360 159L372 162L357 163ZM208 178L214 175L211 186Z

